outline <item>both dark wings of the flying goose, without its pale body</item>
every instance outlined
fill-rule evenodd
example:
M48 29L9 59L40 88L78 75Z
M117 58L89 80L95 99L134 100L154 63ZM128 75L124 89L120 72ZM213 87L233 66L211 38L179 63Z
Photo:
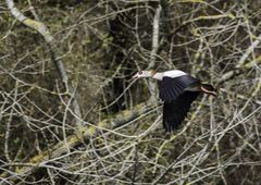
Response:
M160 84L160 98L163 104L163 126L166 132L177 128L189 111L191 102L199 91L187 91L189 86L199 85L200 81L188 75L163 77Z

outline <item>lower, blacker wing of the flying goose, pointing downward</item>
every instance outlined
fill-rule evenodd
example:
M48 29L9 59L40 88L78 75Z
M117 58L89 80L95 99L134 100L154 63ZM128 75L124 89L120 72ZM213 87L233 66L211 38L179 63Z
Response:
M163 126L166 132L177 128L189 111L191 102L198 97L199 91L184 91L175 100L164 102Z

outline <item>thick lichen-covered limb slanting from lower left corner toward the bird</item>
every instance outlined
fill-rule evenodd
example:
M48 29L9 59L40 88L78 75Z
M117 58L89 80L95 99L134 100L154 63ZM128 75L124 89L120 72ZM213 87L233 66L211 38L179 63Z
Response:
M21 164L22 168L16 168L15 172L5 171L0 174L0 178L9 178L9 181L16 182L21 176L27 176L34 172L36 172L40 166L44 166L47 161L51 161L52 159L59 158L62 155L67 152L69 148L74 148L77 145L80 145L83 140L89 139L92 136L98 136L100 131L112 132L114 134L122 135L121 133L116 133L115 128L119 128L127 123L139 119L144 114L147 114L153 111L153 107L151 104L140 103L133 108L133 110L125 110L121 113L116 114L114 119L105 119L99 122L97 125L86 123L88 126L79 125L75 128L73 135L69 136L65 141L60 141L52 147L50 151L52 153L45 151L38 156L33 157L26 164ZM103 133L104 133L103 132ZM134 137L137 136L127 136ZM2 168L9 168L11 164L2 165ZM16 164L13 164L16 166ZM15 173L15 175L13 175Z

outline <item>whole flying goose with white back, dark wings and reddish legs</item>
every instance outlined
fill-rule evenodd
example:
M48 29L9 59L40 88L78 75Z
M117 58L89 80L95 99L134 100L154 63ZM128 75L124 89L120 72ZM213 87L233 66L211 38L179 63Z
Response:
M202 84L200 79L181 70L162 73L157 71L139 71L135 78L152 77L160 81L160 99L163 101L163 127L173 132L184 121L190 104L200 92L216 96L212 85Z

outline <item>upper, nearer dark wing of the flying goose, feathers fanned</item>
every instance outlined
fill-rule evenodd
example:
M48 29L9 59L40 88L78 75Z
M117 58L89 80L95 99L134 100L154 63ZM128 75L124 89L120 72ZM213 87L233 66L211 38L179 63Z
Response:
M174 78L164 76L160 84L160 98L164 102L172 102L185 91L185 88L199 83L199 79L189 75L183 75Z

